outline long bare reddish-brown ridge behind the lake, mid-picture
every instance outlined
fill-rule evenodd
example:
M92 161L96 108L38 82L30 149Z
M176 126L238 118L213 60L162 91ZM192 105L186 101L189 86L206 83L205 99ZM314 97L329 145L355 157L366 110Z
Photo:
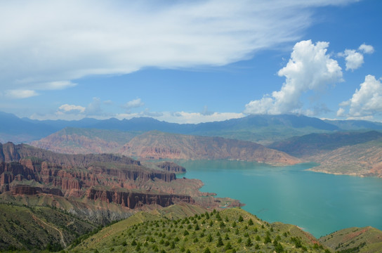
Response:
M296 164L301 162L286 153L265 148L250 141L221 137L186 136L149 131L134 137L119 153L150 159L233 159L265 162L268 164Z

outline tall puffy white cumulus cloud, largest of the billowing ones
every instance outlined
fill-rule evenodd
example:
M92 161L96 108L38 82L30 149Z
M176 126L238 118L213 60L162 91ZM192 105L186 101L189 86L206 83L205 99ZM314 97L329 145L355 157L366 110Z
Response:
M300 41L294 46L289 62L279 70L280 77L286 77L279 91L261 100L253 100L245 105L249 114L283 114L301 112L301 95L309 90L324 89L327 84L342 81L341 67L327 55L328 42Z

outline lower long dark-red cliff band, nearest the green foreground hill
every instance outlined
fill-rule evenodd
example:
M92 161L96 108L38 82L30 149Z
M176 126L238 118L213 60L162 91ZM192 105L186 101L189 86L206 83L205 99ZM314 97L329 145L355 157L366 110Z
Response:
M130 209L142 207L143 205L169 207L175 202L194 203L192 197L187 195L135 193L131 191L96 190L93 188L88 190L86 197L91 200L114 202Z

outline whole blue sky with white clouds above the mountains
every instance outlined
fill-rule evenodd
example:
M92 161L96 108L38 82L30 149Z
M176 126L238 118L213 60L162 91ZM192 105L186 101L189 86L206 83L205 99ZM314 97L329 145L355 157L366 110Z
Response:
M1 1L0 111L382 122L382 1Z

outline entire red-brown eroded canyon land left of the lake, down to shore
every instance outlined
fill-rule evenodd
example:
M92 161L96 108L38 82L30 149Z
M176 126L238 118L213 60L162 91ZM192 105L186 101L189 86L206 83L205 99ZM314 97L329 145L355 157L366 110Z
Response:
M165 165L170 170L182 168L173 163ZM226 202L239 205L235 200L200 193L202 182L176 179L176 174L165 169L150 169L123 155L58 154L25 144L0 143L0 200L14 202L15 196L20 196L20 201L29 205L36 196L37 205L44 200L45 205L79 216L90 212L96 219L106 220L126 217L133 209L147 205L167 207L178 202L199 205L208 202L211 208ZM25 199L25 195L29 197Z

